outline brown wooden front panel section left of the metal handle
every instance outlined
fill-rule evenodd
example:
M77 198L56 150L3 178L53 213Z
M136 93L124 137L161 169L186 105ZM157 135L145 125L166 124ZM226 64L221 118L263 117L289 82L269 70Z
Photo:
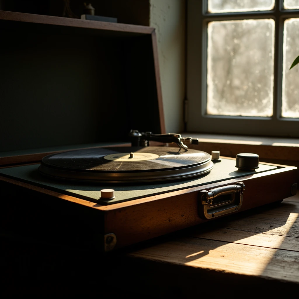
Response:
M170 196L105 211L105 233L114 233L116 248L168 234L205 220L197 214L197 193Z

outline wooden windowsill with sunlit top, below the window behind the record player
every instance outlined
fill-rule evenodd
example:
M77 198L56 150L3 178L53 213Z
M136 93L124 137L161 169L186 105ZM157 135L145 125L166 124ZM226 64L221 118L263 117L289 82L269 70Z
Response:
M222 156L235 157L240 152L254 152L260 156L260 161L299 161L299 138L201 133L182 133L181 135L199 138L199 145L190 145L190 148L209 153L212 150L219 150Z

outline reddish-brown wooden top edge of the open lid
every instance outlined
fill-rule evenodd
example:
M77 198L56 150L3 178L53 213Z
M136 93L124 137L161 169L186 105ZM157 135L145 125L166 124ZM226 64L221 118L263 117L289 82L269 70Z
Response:
M48 25L60 25L69 27L80 27L100 29L109 31L130 32L139 34L151 34L154 28L140 25L118 24L109 22L89 21L56 16L44 16L30 13L17 13L0 10L0 19L8 21L30 22Z

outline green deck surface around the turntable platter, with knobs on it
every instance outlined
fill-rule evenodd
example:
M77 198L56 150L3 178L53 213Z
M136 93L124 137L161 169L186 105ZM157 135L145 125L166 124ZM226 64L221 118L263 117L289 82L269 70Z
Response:
M0 174L15 179L20 179L22 181L32 183L33 185L42 187L46 186L60 193L76 196L92 202L98 202L100 204L109 205L112 203L182 190L208 183L234 179L253 173L277 169L276 166L260 164L260 168L258 168L256 171L237 171L235 163L235 160L222 159L221 162L214 164L214 167L210 173L206 173L202 176L187 180L147 184L83 184L81 182L73 183L68 181L57 181L40 175L37 170L39 164L2 168L0 169ZM99 200L101 189L114 189L115 199L108 202Z

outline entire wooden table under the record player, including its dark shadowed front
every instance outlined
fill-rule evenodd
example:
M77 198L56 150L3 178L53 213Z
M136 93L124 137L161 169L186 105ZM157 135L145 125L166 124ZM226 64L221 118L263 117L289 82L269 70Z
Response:
M298 295L299 196L105 256L27 240L4 240L2 248L2 280L10 295Z

